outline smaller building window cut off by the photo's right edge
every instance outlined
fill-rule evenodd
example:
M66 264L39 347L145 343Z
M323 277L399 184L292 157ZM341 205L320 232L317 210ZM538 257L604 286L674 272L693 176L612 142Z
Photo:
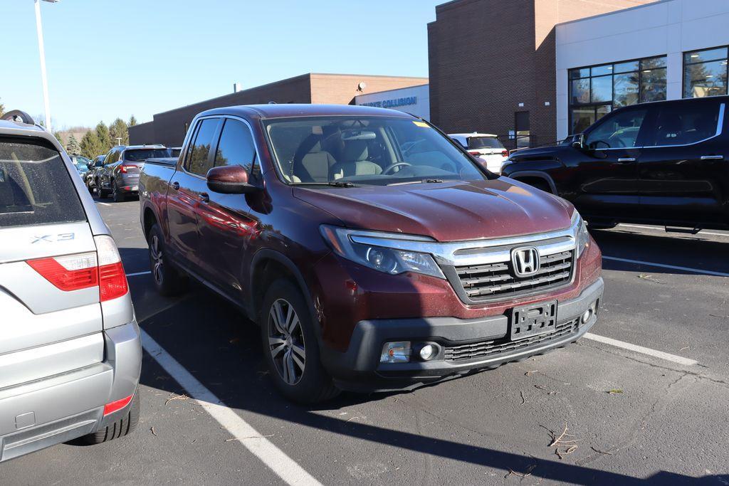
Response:
M684 54L684 98L727 94L728 50L720 47Z

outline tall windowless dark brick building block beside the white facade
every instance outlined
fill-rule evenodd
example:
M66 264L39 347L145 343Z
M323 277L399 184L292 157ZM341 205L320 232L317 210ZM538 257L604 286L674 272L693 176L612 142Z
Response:
M496 133L509 148L555 141L555 26L652 1L453 0L439 5L436 20L428 24L431 121L447 132Z

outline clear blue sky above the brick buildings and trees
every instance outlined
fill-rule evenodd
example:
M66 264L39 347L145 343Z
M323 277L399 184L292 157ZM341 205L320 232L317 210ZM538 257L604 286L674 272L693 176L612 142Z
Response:
M53 128L152 114L306 72L428 75L445 0L42 2ZM0 101L43 113L33 0L0 0ZM11 28L12 26L12 28ZM12 29L12 30L11 30Z

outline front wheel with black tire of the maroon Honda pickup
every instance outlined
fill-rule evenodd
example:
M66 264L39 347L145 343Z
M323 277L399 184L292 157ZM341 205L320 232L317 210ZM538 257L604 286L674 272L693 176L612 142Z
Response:
M277 303L281 305L284 313L289 312L289 306L295 312L290 321L294 322L295 318L298 318L298 326L294 324L295 329L289 334L278 333L275 319L271 317L271 313L276 312L274 305ZM321 365L319 341L314 332L311 313L297 286L287 280L273 282L263 298L259 324L264 359L270 376L278 391L286 399L300 404L313 404L332 399L340 393ZM281 342L271 344L271 340ZM294 348L298 350L296 353ZM287 355L291 358L287 358ZM303 369L301 358L303 358ZM284 371L287 362L291 364L289 369L292 370L288 373L288 378L284 376L287 374Z

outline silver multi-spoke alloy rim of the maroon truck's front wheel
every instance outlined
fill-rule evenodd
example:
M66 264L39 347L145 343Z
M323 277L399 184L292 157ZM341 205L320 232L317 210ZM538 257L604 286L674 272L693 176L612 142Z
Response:
M304 332L296 310L285 299L273 302L268 313L268 350L284 382L299 383L306 364Z

